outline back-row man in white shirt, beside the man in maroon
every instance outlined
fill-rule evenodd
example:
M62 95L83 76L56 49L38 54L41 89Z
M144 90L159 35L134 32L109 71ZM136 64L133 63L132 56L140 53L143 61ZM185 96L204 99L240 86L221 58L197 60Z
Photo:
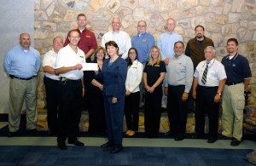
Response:
M105 43L114 41L119 46L119 56L124 60L128 57L128 51L131 48L131 38L125 31L120 31L121 21L118 16L112 19L113 31L108 31L102 37L102 47L105 48Z

